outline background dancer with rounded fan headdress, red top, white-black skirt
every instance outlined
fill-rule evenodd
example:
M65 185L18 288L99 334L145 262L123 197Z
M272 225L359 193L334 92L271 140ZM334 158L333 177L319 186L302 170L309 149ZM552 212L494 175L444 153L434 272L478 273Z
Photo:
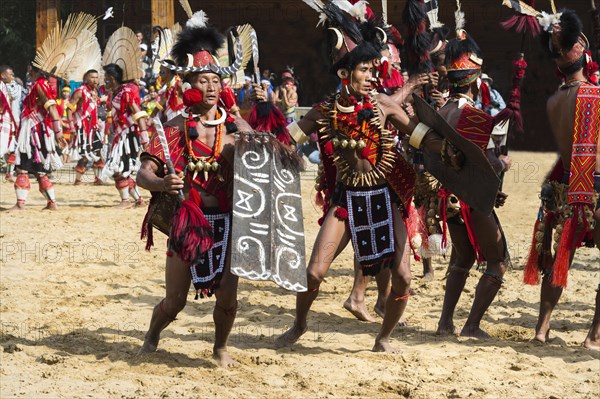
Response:
M102 180L112 176L121 196L119 208L129 208L144 203L131 174L140 167L139 154L148 145L146 118L141 109L139 90L133 81L141 74L141 60L137 54L127 51L136 48L137 38L129 28L119 28L112 34L102 61L106 88L110 90L107 100L106 129L112 126L114 137L108 159L102 170ZM128 44L131 47L127 47Z

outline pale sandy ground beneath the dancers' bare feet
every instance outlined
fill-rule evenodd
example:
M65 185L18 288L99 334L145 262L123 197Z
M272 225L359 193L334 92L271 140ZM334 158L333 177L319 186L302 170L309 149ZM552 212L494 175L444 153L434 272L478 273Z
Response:
M45 205L32 184L29 209L0 213L0 395L26 397L407 397L596 398L600 354L580 347L593 315L599 252L577 253L546 345L530 342L539 287L521 283L541 180L554 155L514 153L506 177L510 195L500 210L514 269L484 318L486 342L434 334L446 264L436 262L423 283L413 264L413 287L398 328L398 354L370 351L378 323L342 308L352 284L352 252L334 262L309 316L309 332L292 349L274 350L293 322L295 296L274 283L242 281L230 339L239 365L224 370L211 359L214 298L194 301L163 333L157 353L136 356L152 307L164 293L165 237L144 250L139 227L145 209L118 210L113 186L73 186L68 168L57 174L60 210ZM318 231L314 171L306 172L307 253ZM14 203L12 184L0 184L0 206ZM479 272L458 305L462 325ZM374 283L367 304L376 298ZM381 319L379 319L381 320Z

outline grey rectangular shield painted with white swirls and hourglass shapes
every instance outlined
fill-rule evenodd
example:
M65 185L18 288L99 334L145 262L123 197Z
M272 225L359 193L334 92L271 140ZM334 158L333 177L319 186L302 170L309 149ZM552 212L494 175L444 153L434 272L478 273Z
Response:
M231 272L306 291L300 173L274 156L271 143L250 141L236 143Z

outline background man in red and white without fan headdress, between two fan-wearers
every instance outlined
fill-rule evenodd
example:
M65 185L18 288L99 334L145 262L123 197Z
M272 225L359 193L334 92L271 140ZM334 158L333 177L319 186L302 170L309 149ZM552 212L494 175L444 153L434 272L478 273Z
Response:
M88 70L83 84L75 90L68 105L67 114L71 125L71 158L75 166L75 185L81 184L87 165L93 162L94 184L101 185L100 175L104 168L101 157L104 144L104 129L98 119L98 71Z

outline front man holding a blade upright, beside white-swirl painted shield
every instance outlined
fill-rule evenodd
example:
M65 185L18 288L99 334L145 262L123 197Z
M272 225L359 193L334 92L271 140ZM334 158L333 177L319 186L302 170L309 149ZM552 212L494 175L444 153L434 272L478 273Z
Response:
M195 207L199 215L176 216L171 223L165 271L166 295L154 307L140 352L156 350L161 331L185 307L190 283L193 283L200 296L214 293L217 297L213 311L213 356L222 367L230 367L235 362L227 351L227 340L237 312L238 287L238 277L230 271L235 142L232 133L252 129L243 119L228 114L219 106L223 77L243 69L241 45L236 47L235 62L231 66L222 67L216 63L217 51L224 45L227 45L225 37L206 25L204 12L193 14L172 50L177 61L173 69L184 73L186 88L184 112L165 125L166 142L177 174L165 174L167 159L157 135L141 156L142 167L137 180L140 186L154 193L144 221L143 235L148 235L148 244L152 241L148 218L159 201L155 198L161 193L164 196L183 190L187 198L183 202L192 202L192 208ZM188 223L198 227L187 235L176 232L185 230ZM207 236L211 230L213 236L209 240ZM202 245L190 244L194 239ZM206 244L206 241L210 242Z

